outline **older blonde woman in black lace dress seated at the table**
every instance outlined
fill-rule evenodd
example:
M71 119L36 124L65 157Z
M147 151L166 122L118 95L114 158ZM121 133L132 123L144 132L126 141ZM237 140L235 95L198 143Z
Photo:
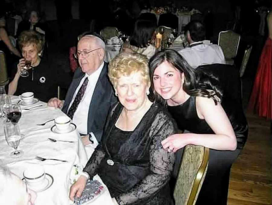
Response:
M110 112L102 141L83 171L91 179L99 174L115 204L170 204L174 153L160 142L176 126L166 109L147 97L147 58L121 53L110 62L108 76L120 103ZM86 177L80 176L70 189L71 200L85 184Z

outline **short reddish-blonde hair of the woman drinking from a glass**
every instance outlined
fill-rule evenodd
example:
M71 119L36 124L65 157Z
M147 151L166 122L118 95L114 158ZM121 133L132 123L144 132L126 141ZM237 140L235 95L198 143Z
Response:
M38 53L40 53L43 49L44 40L36 31L23 31L18 38L18 44L21 50L24 46L34 44L34 47L36 47Z

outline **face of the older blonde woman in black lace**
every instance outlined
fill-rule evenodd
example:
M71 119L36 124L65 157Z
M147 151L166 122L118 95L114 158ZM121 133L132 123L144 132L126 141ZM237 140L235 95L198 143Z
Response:
M140 72L121 76L115 86L119 101L129 111L141 109L147 101L149 86Z

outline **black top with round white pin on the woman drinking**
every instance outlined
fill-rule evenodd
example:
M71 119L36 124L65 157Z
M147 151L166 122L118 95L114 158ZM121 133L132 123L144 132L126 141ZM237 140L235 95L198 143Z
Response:
M12 79L17 71L14 68ZM24 92L33 92L35 98L43 102L48 102L52 97L57 97L57 72L52 68L47 60L41 59L37 67L28 70L29 76L20 76L17 90L14 95L21 95Z

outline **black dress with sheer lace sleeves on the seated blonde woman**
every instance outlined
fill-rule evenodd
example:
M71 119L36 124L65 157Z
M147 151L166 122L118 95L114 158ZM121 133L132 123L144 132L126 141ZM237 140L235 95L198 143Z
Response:
M102 140L83 171L99 174L118 204L170 204L169 180L175 154L161 141L176 132L166 108L153 103L132 132L115 127L123 106L108 117Z

